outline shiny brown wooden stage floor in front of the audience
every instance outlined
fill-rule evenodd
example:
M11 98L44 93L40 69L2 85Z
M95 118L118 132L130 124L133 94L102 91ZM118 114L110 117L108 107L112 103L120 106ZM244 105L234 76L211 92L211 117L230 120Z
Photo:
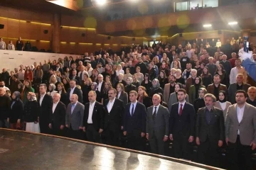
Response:
M217 169L146 152L0 128L0 169Z

